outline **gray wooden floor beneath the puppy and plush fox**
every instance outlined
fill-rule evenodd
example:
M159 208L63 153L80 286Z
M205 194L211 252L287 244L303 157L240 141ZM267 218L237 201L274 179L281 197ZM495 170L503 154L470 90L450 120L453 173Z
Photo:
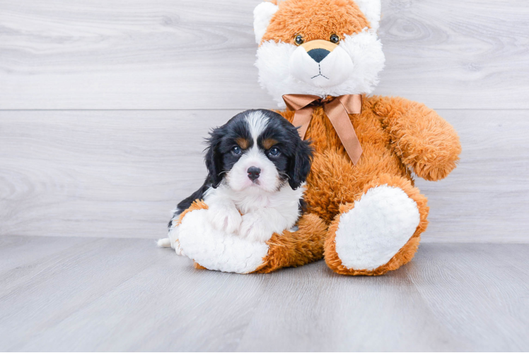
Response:
M423 244L383 277L194 270L152 240L0 238L0 352L527 352L529 244Z

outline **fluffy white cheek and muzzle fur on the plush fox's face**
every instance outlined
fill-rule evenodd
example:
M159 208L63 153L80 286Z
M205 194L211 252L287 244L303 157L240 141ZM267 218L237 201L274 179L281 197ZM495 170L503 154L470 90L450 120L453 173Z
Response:
M332 79L333 85L322 85L324 79L310 79L315 75L318 63L313 61L316 65L309 65L310 61L306 59L310 59L310 56L306 53L304 56L301 50L304 51L293 44L272 40L262 43L257 49L255 66L259 69L259 83L262 88L268 90L280 108L285 107L282 95L288 94L336 97L371 93L378 84L378 73L384 67L382 44L376 31L372 29L344 36L339 42L339 47L321 61L321 71L325 76L328 75L327 77L332 76L329 78ZM335 52L336 54L333 54ZM349 56L349 60L346 56ZM332 59L333 57L335 59ZM305 78L302 77L303 71L306 71ZM339 75L343 77L337 77Z

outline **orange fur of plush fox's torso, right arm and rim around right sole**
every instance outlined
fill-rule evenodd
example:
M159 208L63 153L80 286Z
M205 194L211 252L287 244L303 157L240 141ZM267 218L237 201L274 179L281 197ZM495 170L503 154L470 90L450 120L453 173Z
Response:
M292 121L293 112L280 112ZM419 177L446 177L458 162L461 147L452 126L423 104L404 98L364 97L361 114L350 114L364 152L352 164L323 109L314 109L306 138L313 141L315 157L307 179L308 211L330 225L325 261L345 275L382 275L409 262L428 224L426 197L414 188L411 167ZM376 270L350 270L335 251L339 215L354 208L369 188L398 186L419 208L421 221L413 237L385 265Z

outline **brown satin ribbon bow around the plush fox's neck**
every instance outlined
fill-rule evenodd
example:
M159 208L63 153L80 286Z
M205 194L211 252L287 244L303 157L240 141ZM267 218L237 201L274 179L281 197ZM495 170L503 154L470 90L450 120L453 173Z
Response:
M305 138L314 107L322 105L323 111L329 117L351 161L353 164L358 162L362 154L362 147L348 114L360 114L362 112L361 95L340 95L325 99L317 95L284 95L283 100L286 107L296 111L292 124L293 126L301 126L299 136L302 139Z

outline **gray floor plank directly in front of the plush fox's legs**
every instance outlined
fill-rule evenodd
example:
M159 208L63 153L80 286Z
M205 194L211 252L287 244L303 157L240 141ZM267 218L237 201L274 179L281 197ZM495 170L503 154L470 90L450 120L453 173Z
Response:
M320 262L274 276L269 286L239 352L449 352L467 347L452 339L404 270L344 278Z

